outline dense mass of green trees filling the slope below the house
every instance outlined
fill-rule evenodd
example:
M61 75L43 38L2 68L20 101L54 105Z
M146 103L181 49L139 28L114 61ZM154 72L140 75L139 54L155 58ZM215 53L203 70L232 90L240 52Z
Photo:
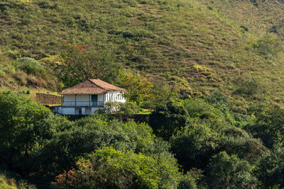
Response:
M24 94L1 93L0 168L38 188L283 187L282 109L241 116L217 96L161 105L151 126L107 112L70 121Z

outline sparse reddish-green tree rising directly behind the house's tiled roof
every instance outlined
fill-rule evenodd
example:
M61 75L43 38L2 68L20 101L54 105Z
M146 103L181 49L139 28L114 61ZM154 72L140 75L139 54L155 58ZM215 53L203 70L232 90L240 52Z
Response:
M87 50L86 45L65 44L62 50L60 78L66 87L87 79L102 79L113 83L119 79L119 65L114 64L107 52Z

